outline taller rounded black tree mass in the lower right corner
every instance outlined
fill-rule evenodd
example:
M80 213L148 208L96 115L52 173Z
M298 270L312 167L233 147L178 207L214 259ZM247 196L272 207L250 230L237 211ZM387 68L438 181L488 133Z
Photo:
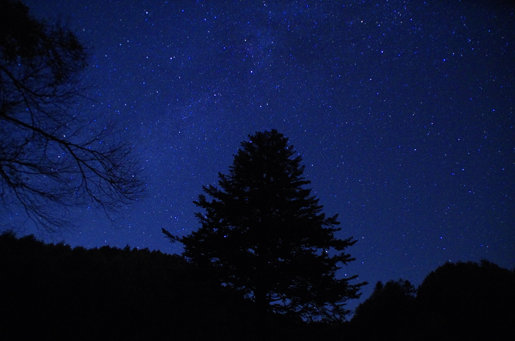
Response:
M447 262L417 290L427 340L504 339L515 333L515 270L486 260Z

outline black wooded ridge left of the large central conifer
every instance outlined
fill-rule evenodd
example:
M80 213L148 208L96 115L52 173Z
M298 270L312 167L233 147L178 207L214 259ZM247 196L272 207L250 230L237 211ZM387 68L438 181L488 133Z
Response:
M239 294L178 255L129 246L72 249L4 233L0 295L3 340L249 339L263 332Z

